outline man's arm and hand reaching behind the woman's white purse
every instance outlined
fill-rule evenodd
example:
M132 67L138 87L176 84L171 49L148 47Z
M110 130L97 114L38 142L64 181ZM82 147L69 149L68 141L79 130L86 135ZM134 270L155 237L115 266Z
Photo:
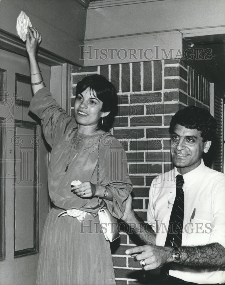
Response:
M155 232L152 227L144 223L144 221L138 217L136 213L132 210L132 197L128 196L125 205L125 212L122 221L126 222L133 232L145 243L145 244L155 244Z

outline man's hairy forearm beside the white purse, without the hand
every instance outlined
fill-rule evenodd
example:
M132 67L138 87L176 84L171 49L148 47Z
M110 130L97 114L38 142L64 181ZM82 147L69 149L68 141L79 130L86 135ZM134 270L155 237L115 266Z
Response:
M144 223L144 221L138 217L134 211L130 213L125 221L130 229L143 241L145 244L153 244L155 245L155 232L152 227Z

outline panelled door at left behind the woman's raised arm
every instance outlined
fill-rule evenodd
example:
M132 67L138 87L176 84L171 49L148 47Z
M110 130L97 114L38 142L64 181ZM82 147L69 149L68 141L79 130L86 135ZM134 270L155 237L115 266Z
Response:
M50 67L39 65L49 88ZM0 50L0 69L5 70L7 79L0 80L0 173L3 172L1 180L4 181L1 182L1 203L5 206L1 284L32 285L36 280L39 244L49 209L48 151L39 120L28 111L32 91L27 58ZM5 87L2 87L3 81Z

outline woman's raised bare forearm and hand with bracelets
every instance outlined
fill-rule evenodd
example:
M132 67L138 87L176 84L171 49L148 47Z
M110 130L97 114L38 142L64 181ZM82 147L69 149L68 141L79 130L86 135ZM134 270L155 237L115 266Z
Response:
M37 49L41 43L41 34L36 28L28 27L26 36L26 50L30 61L30 77L33 93L35 94L39 89L45 87L44 80L41 76L41 70L36 60Z

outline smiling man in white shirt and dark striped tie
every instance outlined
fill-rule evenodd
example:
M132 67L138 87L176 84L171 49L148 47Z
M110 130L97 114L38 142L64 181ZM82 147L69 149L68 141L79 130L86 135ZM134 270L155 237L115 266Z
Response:
M225 175L202 160L215 130L208 111L178 111L169 128L175 167L151 184L147 227L132 211L131 199L126 201L122 219L147 244L126 254L136 254L144 270L161 268L162 283L225 282Z

